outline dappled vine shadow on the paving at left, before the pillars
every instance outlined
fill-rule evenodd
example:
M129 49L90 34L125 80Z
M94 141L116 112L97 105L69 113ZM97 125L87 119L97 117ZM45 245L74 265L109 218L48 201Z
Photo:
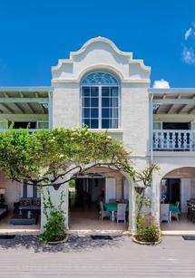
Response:
M119 247L122 244L122 236L113 236L112 240L93 240L91 236L70 235L63 244L43 244L38 236L16 235L14 239L0 239L0 249L25 248L34 253L68 253L90 251L93 248L105 246Z

